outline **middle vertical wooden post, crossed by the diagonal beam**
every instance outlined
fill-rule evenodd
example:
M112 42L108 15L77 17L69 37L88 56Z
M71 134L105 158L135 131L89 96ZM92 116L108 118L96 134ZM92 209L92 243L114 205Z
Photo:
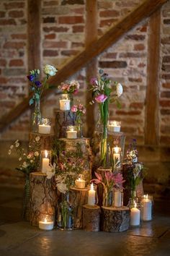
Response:
M97 0L86 0L86 47L89 47L97 40ZM92 59L86 66L86 80L90 81L91 77L97 74L97 58ZM88 87L88 85L87 85ZM94 105L89 105L92 101L91 93L86 90L86 137L91 137L94 132Z

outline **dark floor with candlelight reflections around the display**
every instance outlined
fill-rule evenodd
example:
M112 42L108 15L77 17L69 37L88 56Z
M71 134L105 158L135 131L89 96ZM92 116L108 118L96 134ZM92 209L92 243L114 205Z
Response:
M170 201L156 201L153 221L140 228L104 232L40 231L20 218L22 190L0 187L1 256L170 255Z

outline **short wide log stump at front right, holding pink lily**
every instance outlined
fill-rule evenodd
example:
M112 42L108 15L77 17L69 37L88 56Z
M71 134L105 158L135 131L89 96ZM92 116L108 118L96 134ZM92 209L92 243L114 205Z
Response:
M114 233L129 229L130 208L125 206L122 206L121 208L102 206L101 211L102 231Z

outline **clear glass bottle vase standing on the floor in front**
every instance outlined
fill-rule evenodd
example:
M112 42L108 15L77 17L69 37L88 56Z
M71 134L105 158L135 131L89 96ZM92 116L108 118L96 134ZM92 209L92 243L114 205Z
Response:
M73 229L73 205L69 202L69 194L63 195L62 202L58 205L58 229Z

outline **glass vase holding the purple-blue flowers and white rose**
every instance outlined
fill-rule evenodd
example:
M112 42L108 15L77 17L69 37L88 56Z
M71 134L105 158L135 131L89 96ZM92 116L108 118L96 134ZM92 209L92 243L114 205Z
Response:
M35 101L35 109L32 113L32 132L38 132L38 126L41 123L40 100Z

